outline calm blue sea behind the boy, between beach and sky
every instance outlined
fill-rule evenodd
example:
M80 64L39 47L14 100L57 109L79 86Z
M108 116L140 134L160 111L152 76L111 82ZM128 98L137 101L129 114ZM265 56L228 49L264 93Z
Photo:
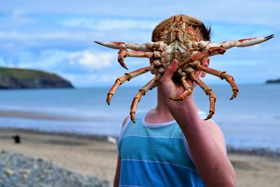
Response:
M239 85L230 100L230 85L210 85L216 94L214 120L235 149L265 149L280 153L280 85ZM97 134L116 137L139 88L120 87L106 104L109 88L0 90L0 127ZM195 102L209 111L209 98L195 89ZM138 111L156 106L156 89L147 92Z

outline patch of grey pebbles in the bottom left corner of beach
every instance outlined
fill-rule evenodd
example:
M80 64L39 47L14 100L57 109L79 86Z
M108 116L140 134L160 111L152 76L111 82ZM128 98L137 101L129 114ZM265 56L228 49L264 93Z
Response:
M92 187L112 186L96 176L85 176L52 162L28 158L18 153L0 152L0 187Z

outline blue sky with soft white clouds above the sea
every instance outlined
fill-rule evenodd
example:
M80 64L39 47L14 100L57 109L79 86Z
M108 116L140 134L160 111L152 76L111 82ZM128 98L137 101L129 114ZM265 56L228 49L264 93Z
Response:
M0 0L0 66L59 74L76 88L109 87L128 71L118 64L118 50L93 41L145 43L160 21L180 13L211 25L211 41L218 43L275 34L257 46L211 57L210 67L227 71L237 84L280 78L280 1L269 0ZM146 58L125 63L129 71L149 65ZM124 85L151 78L148 72ZM211 75L203 80L226 83Z

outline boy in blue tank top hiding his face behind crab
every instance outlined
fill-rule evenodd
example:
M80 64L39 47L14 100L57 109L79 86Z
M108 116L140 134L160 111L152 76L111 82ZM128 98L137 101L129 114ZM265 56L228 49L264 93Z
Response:
M209 31L195 18L183 16L193 25L202 25L200 37L209 40ZM157 28L172 22L161 22ZM209 57L201 61L209 66ZM158 85L158 105L147 113L137 113L135 124L125 119L118 139L119 157L114 186L235 186L235 172L226 155L225 140L212 120L203 120L193 93L183 101L169 97L183 93L183 86L172 81L178 68L173 60ZM157 72L155 72L157 74ZM197 71L197 78L205 76ZM188 81L195 87L195 83Z

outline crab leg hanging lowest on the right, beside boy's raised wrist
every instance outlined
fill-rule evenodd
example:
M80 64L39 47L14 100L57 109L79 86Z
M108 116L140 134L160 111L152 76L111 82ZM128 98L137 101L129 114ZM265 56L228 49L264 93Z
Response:
M216 96L215 96L214 92L212 91L212 89L209 88L209 86L207 84L205 84L203 81L200 80L200 78L197 78L195 76L195 71L190 72L189 75L190 75L190 79L195 81L195 83L197 83L197 85L199 85L200 88L202 88L202 90L204 90L206 95L209 96L209 101L210 101L209 114L208 114L207 118L204 119L204 120L209 120L215 113Z

